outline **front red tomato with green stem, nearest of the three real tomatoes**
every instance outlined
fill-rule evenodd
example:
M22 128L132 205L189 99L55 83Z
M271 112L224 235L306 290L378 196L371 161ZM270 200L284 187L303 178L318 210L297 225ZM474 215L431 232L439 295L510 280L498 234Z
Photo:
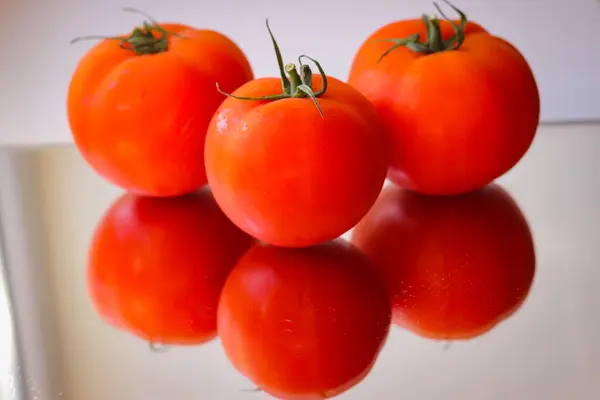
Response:
M206 136L206 172L219 206L273 245L340 236L366 214L385 180L385 136L373 106L316 64L321 75L314 78L308 65L300 77L287 64L288 79L280 62L282 80L243 85L221 104Z

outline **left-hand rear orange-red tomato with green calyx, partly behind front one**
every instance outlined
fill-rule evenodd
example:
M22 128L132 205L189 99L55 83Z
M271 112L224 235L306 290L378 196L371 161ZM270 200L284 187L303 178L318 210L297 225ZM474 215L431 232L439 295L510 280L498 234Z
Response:
M125 8L125 11L140 11ZM148 21L101 39L79 61L67 95L75 144L111 183L141 195L177 196L206 184L206 128L224 96L254 78L227 36Z

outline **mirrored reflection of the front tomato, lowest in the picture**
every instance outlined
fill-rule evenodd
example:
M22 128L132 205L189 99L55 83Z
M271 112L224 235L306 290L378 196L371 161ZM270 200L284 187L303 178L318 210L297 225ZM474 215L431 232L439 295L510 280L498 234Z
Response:
M358 384L382 348L390 302L346 241L259 244L225 283L218 331L232 364L278 399L325 399Z

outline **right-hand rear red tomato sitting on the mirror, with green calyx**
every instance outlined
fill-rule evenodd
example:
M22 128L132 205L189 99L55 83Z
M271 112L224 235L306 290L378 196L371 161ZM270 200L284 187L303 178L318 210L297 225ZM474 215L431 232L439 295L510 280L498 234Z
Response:
M423 18L426 24L401 20L371 34L348 82L373 102L386 127L392 182L431 195L465 193L527 152L539 122L538 88L506 40L466 17Z

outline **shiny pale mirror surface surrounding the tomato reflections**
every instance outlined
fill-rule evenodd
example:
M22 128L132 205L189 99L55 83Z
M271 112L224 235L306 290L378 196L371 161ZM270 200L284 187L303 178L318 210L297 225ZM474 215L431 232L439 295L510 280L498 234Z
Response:
M600 124L545 127L500 180L528 219L537 250L532 290L514 316L448 350L394 327L372 373L340 399L600 398L598 148ZM41 220L26 221L27 231L42 232L45 240L41 247L31 244L29 262L15 268L24 270L22 276L48 274L44 287L52 296L41 310L58 329L48 321L41 326L54 340L48 346L60 345L61 351L51 365L62 374L47 386L54 391L38 393L39 400L265 398L240 391L253 386L232 369L218 341L156 355L104 324L87 297L86 251L98 218L119 190L101 181L73 148L30 153L20 169L31 171L20 173L21 182L37 193L22 211L41 214ZM22 226L13 220L5 229ZM32 329L34 310L25 304L34 304L26 287L17 289L21 315L29 316Z

